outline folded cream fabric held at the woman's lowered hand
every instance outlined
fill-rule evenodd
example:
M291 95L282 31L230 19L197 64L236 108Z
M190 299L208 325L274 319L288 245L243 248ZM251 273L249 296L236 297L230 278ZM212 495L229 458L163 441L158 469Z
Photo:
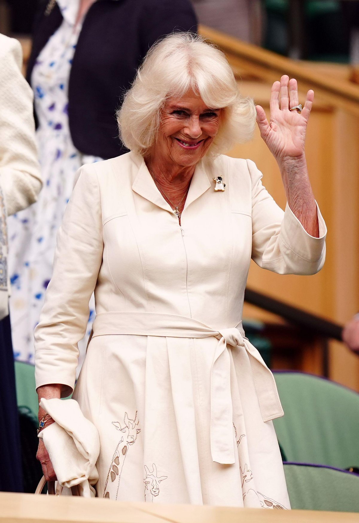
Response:
M75 400L41 398L40 406L55 420L39 438L49 452L53 470L63 487L78 485L84 497L94 497L100 450L97 428L82 414Z

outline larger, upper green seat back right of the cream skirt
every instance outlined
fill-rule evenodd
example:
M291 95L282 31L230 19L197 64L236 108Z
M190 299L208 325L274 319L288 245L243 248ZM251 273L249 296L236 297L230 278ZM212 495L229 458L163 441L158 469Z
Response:
M274 377L285 413L274 426L286 460L359 467L359 394L311 374Z

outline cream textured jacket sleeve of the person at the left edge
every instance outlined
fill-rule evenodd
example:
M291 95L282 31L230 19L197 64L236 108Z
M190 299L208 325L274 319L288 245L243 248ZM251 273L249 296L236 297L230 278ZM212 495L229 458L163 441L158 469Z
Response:
M0 184L8 215L35 202L42 187L33 95L21 65L20 43L0 35Z

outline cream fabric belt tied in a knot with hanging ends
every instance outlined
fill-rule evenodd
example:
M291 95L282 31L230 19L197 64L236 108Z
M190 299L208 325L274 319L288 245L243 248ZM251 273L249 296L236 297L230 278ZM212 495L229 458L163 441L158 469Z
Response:
M233 412L230 356L227 348L244 347L248 353L255 389L264 422L284 415L272 372L257 349L244 338L242 323L231 328L211 328L204 323L172 314L152 312L104 312L95 317L93 337L108 334L208 338L219 340L211 369L210 444L212 460L232 464L234 460ZM229 347L228 347L229 346Z

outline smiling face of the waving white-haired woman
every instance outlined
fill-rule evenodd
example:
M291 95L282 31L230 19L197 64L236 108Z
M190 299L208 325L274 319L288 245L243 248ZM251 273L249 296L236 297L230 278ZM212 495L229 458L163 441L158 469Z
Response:
M208 151L220 125L222 109L207 107L192 90L167 100L151 154L162 162L190 167Z

